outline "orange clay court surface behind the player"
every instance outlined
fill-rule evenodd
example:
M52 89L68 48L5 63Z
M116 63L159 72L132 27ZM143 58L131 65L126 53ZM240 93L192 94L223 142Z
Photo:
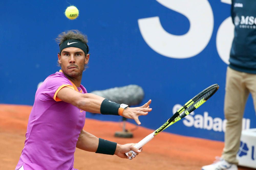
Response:
M25 133L31 106L0 104L0 169L14 169L24 147ZM142 122L143 123L143 122ZM133 126L127 124L127 127ZM135 143L152 129L138 127L133 138L116 138L115 131L122 131L120 123L86 119L84 130L103 139L120 144ZM143 147L142 153L133 160L114 155L96 154L77 149L74 168L90 169L175 169L194 170L211 164L220 156L223 142L185 137L162 132ZM250 169L239 167L240 170Z

